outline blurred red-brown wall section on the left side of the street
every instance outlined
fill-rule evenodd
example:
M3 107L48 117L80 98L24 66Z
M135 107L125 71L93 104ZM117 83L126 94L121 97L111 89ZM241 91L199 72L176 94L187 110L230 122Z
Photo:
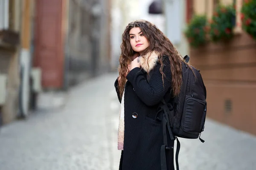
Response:
M42 86L45 89L63 87L64 3L64 0L36 1L34 66L42 70Z

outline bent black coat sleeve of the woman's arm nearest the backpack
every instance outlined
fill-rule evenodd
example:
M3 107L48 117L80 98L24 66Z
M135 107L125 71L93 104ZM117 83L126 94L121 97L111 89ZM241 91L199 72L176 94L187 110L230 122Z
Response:
M137 96L148 106L158 104L169 90L172 84L172 73L169 59L163 60L162 80L160 72L161 64L157 62L155 68L150 71L150 81L148 82L140 68L132 69L127 75L127 80L131 82Z

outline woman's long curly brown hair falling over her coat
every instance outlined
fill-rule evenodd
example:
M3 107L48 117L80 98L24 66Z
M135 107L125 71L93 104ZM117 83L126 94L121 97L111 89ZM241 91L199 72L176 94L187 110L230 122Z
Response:
M141 54L138 54L131 48L129 32L131 28L134 27L139 27L149 42L149 47ZM121 55L119 57L120 65L118 68L120 77L118 81L120 96L122 96L125 89L128 64L139 55L143 57L143 55L152 51L156 51L159 54L158 61L161 63L160 72L162 74L162 79L165 76L163 73L163 56L169 57L172 72L172 94L174 96L179 94L182 83L183 58L173 46L172 42L157 28L157 26L146 20L136 20L129 23L122 34Z

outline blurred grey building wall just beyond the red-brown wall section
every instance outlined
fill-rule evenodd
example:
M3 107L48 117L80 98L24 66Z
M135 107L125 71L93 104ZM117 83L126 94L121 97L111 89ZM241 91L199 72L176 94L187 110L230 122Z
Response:
M65 49L67 86L110 68L110 1L69 1Z

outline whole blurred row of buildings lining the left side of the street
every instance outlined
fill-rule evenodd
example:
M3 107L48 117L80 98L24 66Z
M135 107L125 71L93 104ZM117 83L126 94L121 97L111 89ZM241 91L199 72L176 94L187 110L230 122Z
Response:
M43 91L110 70L108 0L0 1L1 123L26 117Z

